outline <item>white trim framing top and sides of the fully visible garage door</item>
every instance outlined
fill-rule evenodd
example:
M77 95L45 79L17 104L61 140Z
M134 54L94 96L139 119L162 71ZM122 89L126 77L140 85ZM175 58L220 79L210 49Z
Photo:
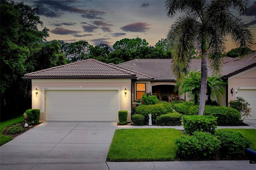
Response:
M118 91L118 110L121 108L121 88L120 87L42 87L42 111L45 111L45 90L117 90Z

